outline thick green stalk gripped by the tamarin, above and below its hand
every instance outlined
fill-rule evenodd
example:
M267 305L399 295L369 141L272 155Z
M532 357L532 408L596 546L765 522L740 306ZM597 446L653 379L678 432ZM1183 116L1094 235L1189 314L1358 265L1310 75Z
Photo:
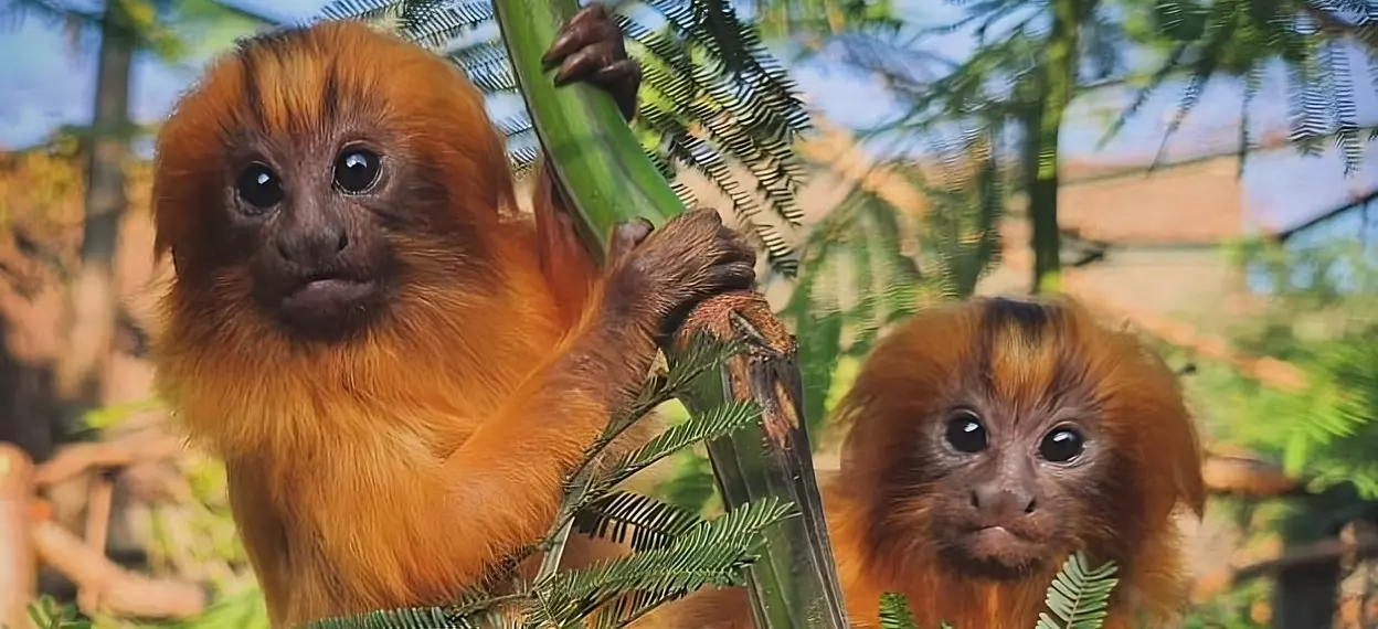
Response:
M590 250L602 260L608 234L617 223L641 216L660 226L683 212L612 98L583 84L555 88L543 72L540 58L559 25L579 11L577 3L496 0L495 6L548 167ZM723 321L744 325L723 326ZM686 328L696 326L734 334L752 350L750 358L711 374L686 405L704 410L751 399L762 407L762 423L710 443L723 504L736 508L774 495L794 502L802 513L766 533L766 556L750 570L757 623L766 629L842 629L846 614L801 417L792 339L752 293L710 300L690 315ZM761 330L770 333L762 336Z

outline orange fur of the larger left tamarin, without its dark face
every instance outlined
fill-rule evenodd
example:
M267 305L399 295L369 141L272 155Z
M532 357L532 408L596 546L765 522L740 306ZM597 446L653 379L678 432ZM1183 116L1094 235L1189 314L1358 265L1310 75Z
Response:
M412 228L389 234L405 284L384 319L310 345L249 299L226 238L245 136L316 158L339 125L415 173ZM444 59L361 23L251 40L208 69L158 136L154 219L176 278L158 388L226 461L230 500L274 626L448 601L533 542L609 405L642 379L650 332L599 337L615 365L561 363L594 326L562 315L537 235L513 204L480 92ZM587 266L583 268L588 268ZM570 292L583 300L582 292ZM542 380L544 379L544 380Z

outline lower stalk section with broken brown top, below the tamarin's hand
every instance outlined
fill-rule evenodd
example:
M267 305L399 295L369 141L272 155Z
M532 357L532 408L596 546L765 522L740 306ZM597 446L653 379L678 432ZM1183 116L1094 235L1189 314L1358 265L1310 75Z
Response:
M761 421L708 442L712 475L728 508L790 500L799 516L765 531L768 552L747 568L761 628L846 628L823 500L813 472L803 391L794 339L755 293L726 295L700 306L679 343L704 330L737 339L747 351L719 372L700 376L681 396L693 413L737 401L761 409Z

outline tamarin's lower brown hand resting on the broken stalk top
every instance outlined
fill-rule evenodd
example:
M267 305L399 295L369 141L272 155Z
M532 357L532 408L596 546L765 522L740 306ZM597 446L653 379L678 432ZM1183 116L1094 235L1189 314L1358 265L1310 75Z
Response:
M664 339L704 299L745 290L757 253L714 209L695 209L652 233L638 220L617 227L609 253L608 299L631 317L655 317Z

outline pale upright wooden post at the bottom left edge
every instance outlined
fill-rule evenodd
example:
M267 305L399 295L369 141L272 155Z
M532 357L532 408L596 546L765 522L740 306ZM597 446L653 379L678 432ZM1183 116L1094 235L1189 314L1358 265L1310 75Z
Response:
M29 456L0 442L0 626L29 626L29 600L36 586L29 542L32 475Z

